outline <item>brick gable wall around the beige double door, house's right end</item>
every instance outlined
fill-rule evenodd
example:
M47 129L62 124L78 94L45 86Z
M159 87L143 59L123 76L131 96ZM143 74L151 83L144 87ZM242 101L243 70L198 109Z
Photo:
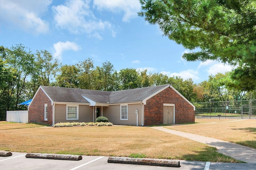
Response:
M164 103L175 104L175 123L195 122L194 108L172 88L166 88L146 101L144 125L158 125L164 122Z

